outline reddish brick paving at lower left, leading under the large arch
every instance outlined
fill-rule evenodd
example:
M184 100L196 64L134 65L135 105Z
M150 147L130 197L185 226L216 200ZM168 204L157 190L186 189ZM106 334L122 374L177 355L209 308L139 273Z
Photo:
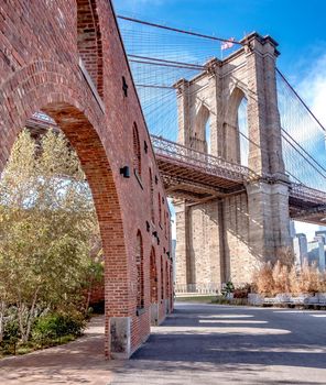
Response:
M0 361L1 385L107 385L111 375L104 360L104 317L93 318L85 336L66 345Z

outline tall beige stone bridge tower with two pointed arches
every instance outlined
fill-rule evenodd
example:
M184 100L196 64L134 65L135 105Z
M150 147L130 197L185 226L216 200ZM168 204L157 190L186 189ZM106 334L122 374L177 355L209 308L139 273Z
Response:
M197 129L198 105L209 110L211 154L241 164L239 107L247 101L248 167L257 175L238 191L210 200L178 200L176 208L176 289L211 290L222 282L251 280L254 267L274 261L290 246L289 179L285 175L278 109L278 43L257 33L224 61L177 89L178 142L205 152ZM202 145L202 148L200 148Z

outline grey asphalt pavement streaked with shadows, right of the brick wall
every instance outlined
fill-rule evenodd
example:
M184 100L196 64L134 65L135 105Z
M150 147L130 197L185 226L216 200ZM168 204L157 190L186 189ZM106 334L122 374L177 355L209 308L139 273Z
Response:
M181 304L111 384L326 384L326 312Z

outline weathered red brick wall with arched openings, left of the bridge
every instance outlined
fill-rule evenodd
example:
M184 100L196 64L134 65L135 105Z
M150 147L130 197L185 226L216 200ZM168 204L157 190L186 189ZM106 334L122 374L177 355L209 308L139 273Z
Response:
M79 57L102 106L78 66ZM131 318L134 351L150 332L151 250L155 250L159 273L161 255L163 264L170 266L170 228L166 231L159 226L157 197L165 194L108 0L0 3L0 172L26 119L40 110L55 119L76 148L93 191L106 262L106 352L110 350L110 317ZM141 178L133 170L134 123L141 147ZM123 166L130 167L130 178L120 175ZM153 220L150 169L153 178L157 177L153 183ZM169 211L166 199L161 202L161 211ZM135 311L138 231L144 258L145 311L140 316ZM160 308L164 317L163 304Z

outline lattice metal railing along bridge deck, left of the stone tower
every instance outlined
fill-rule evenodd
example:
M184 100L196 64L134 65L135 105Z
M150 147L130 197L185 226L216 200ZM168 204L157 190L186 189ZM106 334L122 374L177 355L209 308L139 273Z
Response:
M221 157L186 147L161 136L151 135L151 139L155 154L159 156L186 163L187 165L202 168L205 173L222 175L237 182L259 179L259 175L246 166L227 162Z

